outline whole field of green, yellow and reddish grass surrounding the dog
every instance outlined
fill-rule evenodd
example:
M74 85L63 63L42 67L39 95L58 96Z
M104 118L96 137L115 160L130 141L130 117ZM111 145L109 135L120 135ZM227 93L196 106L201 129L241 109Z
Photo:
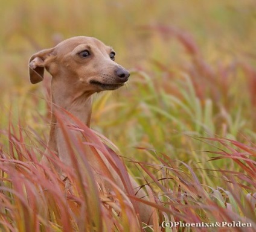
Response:
M254 0L10 0L0 13L1 232L256 231ZM126 87L95 95L97 136L77 126L95 146L119 149L127 169L112 168L121 177L128 171L150 187L144 203L155 208L153 227L138 222L142 199L117 187L104 196L83 158L75 172L58 163L71 189L39 163L51 77L30 84L28 59L78 35L113 46L131 72ZM69 139L74 157L83 157ZM161 227L179 221L251 227Z

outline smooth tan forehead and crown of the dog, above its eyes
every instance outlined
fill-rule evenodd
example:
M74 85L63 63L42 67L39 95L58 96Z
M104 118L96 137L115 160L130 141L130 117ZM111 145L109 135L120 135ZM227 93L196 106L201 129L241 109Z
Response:
M63 40L56 46L57 53L67 53L73 51L77 46L87 45L87 46L97 46L101 49L111 49L109 46L104 45L103 42L94 38L86 36L77 36L70 39Z

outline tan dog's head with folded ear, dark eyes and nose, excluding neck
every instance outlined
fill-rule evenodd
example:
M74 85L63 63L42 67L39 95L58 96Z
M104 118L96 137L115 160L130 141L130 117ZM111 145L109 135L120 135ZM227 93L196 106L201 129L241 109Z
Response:
M129 79L129 72L115 63L115 51L92 37L72 37L54 48L32 55L30 81L43 80L44 69L69 87L83 86L88 92L114 90Z

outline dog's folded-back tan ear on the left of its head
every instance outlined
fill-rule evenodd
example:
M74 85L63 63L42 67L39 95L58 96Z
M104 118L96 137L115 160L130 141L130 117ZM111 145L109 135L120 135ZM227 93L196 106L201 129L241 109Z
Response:
M45 49L30 57L29 69L30 69L30 82L32 84L39 83L43 80L43 73L45 71L46 59L51 56L53 48Z

